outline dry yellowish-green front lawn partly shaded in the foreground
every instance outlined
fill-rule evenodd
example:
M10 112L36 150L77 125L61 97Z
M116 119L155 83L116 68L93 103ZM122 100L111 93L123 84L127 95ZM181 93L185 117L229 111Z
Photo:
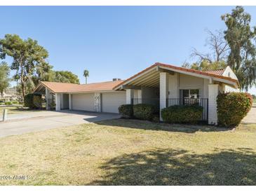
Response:
M112 120L0 139L0 175L26 185L255 185L256 125Z

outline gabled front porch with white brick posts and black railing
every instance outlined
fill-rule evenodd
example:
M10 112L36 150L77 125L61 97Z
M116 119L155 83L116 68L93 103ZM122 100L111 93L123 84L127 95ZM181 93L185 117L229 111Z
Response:
M123 83L126 104L154 104L159 109L172 105L198 104L203 107L202 121L217 125L217 95L222 83L210 76L164 67L151 67Z

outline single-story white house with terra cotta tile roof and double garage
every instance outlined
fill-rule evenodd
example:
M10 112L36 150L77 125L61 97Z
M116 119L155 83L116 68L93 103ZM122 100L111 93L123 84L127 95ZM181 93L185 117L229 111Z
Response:
M121 104L154 104L163 109L175 104L198 103L202 120L217 124L216 97L219 92L239 92L230 67L198 71L155 63L125 81L89 84L41 82L34 92L46 97L46 109L55 108L118 113Z

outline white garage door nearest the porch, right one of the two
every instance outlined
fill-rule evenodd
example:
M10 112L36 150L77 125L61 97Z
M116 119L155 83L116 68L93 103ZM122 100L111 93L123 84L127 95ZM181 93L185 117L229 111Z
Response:
M118 113L121 104L126 104L125 91L102 93L102 112Z

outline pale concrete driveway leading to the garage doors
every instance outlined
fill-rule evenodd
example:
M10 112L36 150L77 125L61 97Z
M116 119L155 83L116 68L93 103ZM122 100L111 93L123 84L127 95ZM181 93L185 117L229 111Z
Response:
M10 114L8 115L8 121L0 123L0 137L62 128L112 118L119 118L119 115L85 111L37 111L34 113Z

